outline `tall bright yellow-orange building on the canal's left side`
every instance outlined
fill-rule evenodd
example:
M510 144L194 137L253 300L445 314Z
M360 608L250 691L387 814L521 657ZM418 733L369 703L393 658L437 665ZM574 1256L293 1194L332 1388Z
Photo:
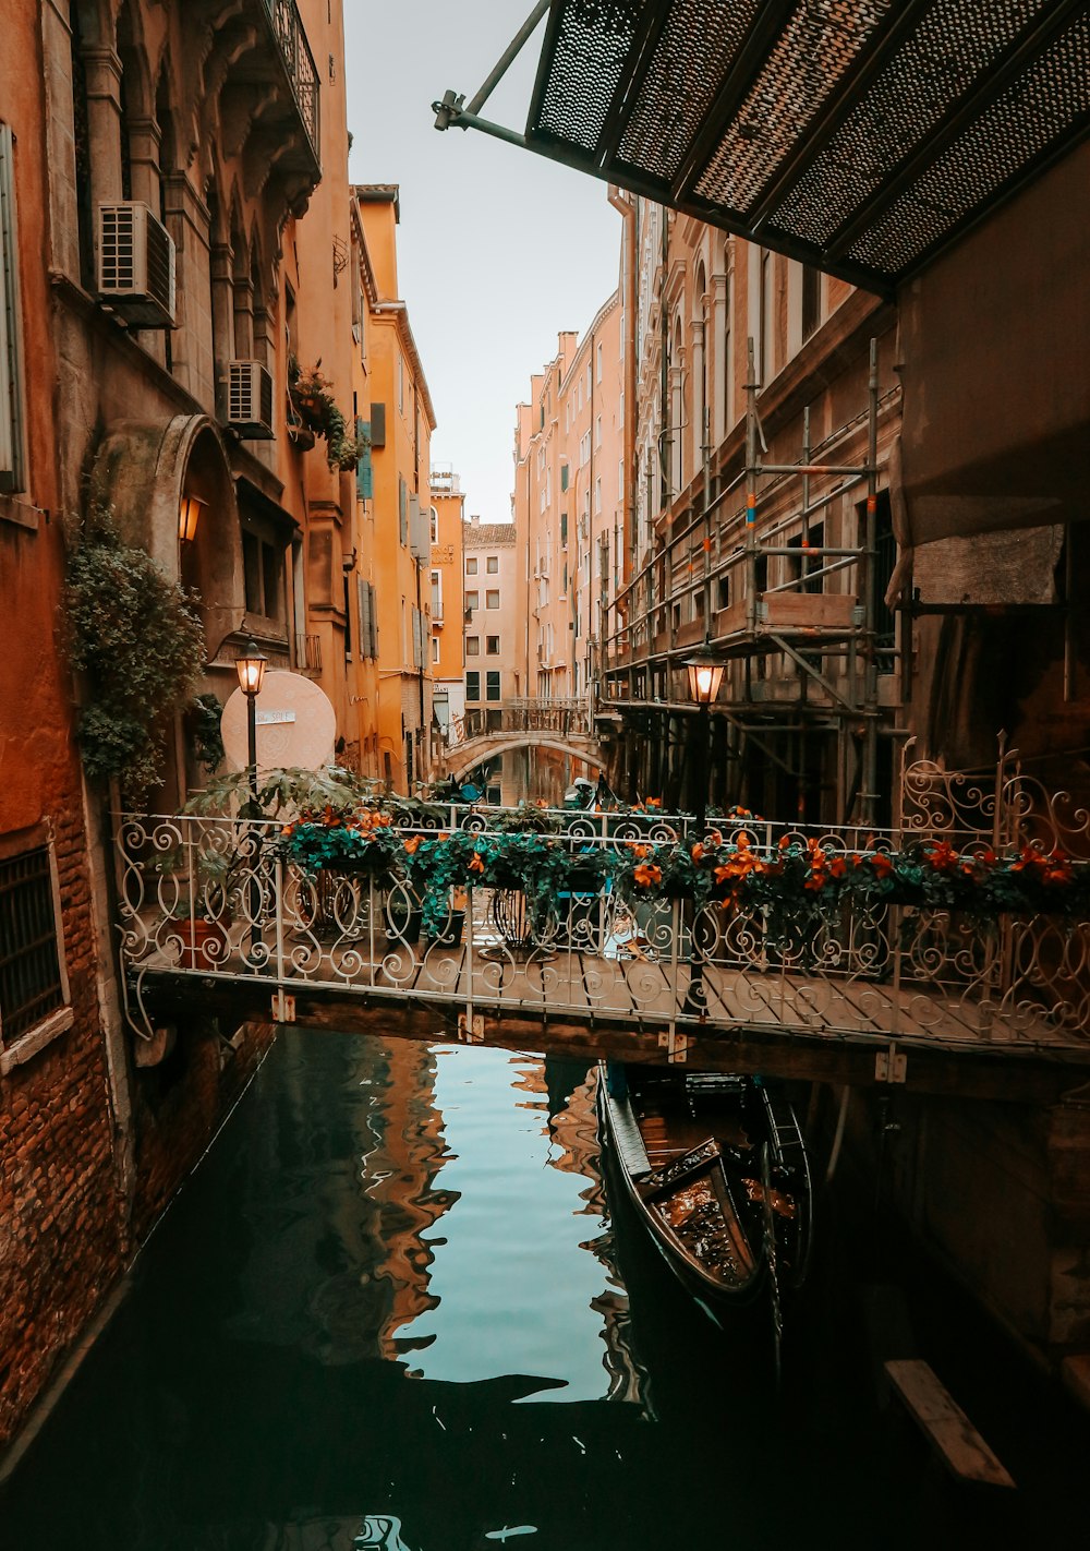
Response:
M367 332L374 582L378 617L378 776L411 794L433 768L428 383L398 296L395 185L354 191L375 281Z

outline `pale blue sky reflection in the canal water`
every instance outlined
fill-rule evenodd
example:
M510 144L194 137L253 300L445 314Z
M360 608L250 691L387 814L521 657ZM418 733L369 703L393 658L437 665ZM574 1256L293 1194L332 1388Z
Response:
M550 1166L547 1106L523 1086L527 1069L540 1062L505 1050L439 1053L442 1187L460 1196L436 1224L447 1241L434 1247L428 1289L439 1307L398 1334L436 1337L412 1354L426 1379L541 1374L567 1387L540 1399L600 1399L603 1320L591 1304L606 1276L580 1245L602 1224L586 1218L588 1179Z

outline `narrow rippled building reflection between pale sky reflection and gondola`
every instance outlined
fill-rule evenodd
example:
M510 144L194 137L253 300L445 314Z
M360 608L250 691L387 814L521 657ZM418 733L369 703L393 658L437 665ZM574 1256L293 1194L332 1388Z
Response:
M609 1221L598 1151L598 1120L595 1109L597 1076L594 1067L572 1061L526 1061L518 1058L519 1079L513 1084L524 1093L536 1095L523 1109L540 1109L546 1117L543 1134L552 1148L549 1165L563 1174L575 1174L586 1180L580 1190L580 1216L595 1222ZM612 1228L605 1228L580 1249L589 1250L606 1273L606 1290L592 1300L591 1307L602 1318L602 1339L606 1345L603 1368L609 1374L609 1401L633 1401L645 1405L647 1374L631 1345L631 1317L628 1294L617 1272Z

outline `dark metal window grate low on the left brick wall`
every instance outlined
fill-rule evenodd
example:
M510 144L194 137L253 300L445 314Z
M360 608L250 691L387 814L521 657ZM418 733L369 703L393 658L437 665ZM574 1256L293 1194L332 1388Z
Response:
M0 1038L11 1041L64 1003L50 850L0 861Z

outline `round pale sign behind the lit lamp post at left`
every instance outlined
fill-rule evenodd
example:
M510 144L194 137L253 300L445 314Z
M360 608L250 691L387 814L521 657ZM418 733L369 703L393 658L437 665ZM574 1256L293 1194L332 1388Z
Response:
M293 765L316 771L333 758L336 712L323 689L299 673L265 673L254 700L257 769ZM247 696L240 689L223 707L223 749L229 769L245 769L248 754Z

